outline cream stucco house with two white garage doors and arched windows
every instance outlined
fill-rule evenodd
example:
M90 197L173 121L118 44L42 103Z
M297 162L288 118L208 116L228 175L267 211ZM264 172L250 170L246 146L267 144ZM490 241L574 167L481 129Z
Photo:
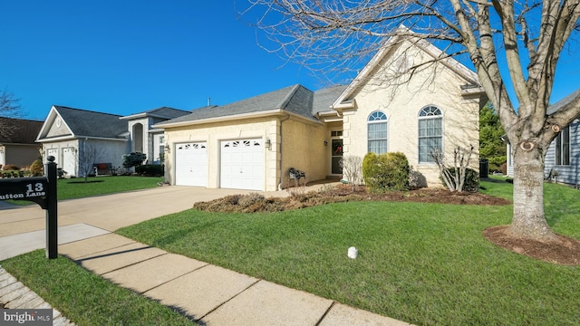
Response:
M290 168L308 181L342 177L345 155L401 151L426 185L440 186L435 149L452 159L456 147L473 146L478 169L478 111L486 102L474 72L450 58L429 63L444 56L426 41L392 38L350 85L294 85L158 123L166 178L271 191L289 185ZM391 77L413 65L421 68L411 82Z

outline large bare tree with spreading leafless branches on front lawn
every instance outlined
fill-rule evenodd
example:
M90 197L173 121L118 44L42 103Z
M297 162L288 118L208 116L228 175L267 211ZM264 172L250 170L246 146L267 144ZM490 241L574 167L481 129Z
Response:
M265 33L262 46L329 79L360 67L360 60L367 61L368 53L395 35L436 43L444 52L435 61L469 57L514 149L508 232L556 240L544 214L544 158L557 133L580 116L580 91L556 112L546 114L546 108L560 55L575 45L571 38L578 34L580 0L248 2L238 9ZM420 68L408 72L412 76ZM515 94L517 108L508 91Z

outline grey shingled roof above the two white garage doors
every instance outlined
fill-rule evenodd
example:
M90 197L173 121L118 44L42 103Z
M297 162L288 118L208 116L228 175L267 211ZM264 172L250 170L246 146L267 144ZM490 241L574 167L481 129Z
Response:
M218 118L238 118L240 115L275 114L282 111L293 113L307 120L318 122L313 115L314 92L300 84L288 86L277 91L233 102L224 106L206 106L192 110L179 118L163 121L155 125L167 128Z

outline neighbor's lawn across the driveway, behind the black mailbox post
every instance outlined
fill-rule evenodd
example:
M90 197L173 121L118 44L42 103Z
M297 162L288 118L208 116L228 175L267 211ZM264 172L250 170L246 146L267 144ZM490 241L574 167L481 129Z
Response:
M84 178L58 179L57 192L58 200L92 197L107 194L120 193L131 190L158 187L158 183L163 181L163 177L88 177L87 183ZM34 204L25 200L8 200L16 205Z

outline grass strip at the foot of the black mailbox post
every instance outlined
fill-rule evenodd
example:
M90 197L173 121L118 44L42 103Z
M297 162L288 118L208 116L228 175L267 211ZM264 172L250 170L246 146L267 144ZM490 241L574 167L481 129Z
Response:
M191 325L168 307L121 288L73 261L43 250L7 259L3 267L78 325Z

